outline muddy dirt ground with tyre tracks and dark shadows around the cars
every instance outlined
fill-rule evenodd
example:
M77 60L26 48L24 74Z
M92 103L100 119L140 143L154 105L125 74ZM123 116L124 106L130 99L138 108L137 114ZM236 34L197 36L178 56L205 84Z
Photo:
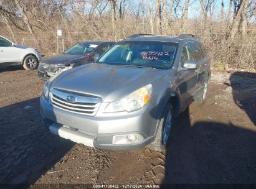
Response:
M165 153L92 149L50 134L40 125L43 85L37 71L0 71L0 184L256 183L255 73L214 71L206 103L179 116Z

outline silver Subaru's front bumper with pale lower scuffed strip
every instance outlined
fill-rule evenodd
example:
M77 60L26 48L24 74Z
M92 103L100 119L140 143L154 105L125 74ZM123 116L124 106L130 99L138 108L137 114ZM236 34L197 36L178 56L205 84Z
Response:
M40 114L43 124L50 132L100 149L139 149L154 141L154 131L158 120L140 109L136 113L111 113L104 116L85 116L54 108L40 98ZM126 115L125 115L126 114ZM113 144L113 137L140 134L143 141L133 144Z

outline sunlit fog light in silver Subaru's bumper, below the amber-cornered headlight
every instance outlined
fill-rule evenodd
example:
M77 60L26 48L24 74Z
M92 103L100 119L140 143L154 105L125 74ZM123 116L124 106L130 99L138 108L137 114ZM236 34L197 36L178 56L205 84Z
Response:
M133 144L144 140L141 134L125 134L113 136L112 144Z

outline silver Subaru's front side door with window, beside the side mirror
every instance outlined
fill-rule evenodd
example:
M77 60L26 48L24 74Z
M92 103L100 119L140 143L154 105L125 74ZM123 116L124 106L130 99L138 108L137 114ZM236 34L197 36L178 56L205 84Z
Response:
M194 56L189 42L186 42L183 46L183 52L181 54L181 60L179 62L179 81L178 88L181 94L181 101L183 104L187 104L192 99L197 85L197 69L187 70L184 68L186 60L194 60Z

